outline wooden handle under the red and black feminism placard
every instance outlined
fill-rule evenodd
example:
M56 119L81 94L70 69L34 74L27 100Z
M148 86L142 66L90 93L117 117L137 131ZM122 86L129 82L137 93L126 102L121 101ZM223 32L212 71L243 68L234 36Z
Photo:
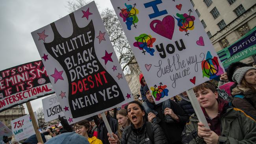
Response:
M33 124L34 130L35 130L35 135L37 136L37 141L41 142L43 144L44 142L43 142L43 139L42 139L41 134L39 132L39 127L37 125L37 121L35 119L35 115L34 115L31 103L26 102L26 105L28 107L28 113L29 113L29 115L31 117L31 120L32 120L32 124Z

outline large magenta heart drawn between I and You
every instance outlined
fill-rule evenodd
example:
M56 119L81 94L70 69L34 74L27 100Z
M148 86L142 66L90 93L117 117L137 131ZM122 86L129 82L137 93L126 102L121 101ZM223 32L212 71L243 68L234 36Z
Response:
M154 24L156 25L154 26ZM174 18L171 15L165 16L162 21L152 20L152 22L150 22L151 30L167 39L173 38L174 26Z

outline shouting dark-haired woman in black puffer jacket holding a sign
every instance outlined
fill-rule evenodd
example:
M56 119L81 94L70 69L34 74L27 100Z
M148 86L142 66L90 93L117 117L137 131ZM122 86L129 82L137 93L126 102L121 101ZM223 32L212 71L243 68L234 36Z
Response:
M146 122L145 110L141 103L130 102L127 113L132 124L124 129L121 140L114 133L114 138L111 138L108 133L110 144L167 144L162 128L158 124Z

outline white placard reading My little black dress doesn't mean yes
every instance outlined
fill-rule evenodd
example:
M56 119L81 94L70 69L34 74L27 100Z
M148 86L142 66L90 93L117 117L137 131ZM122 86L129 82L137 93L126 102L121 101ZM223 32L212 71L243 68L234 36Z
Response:
M95 2L32 37L69 124L133 100Z

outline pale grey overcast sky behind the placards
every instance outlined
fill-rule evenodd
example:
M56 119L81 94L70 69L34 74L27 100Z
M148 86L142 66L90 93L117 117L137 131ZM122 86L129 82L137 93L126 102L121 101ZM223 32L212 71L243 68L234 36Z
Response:
M41 57L30 34L69 14L68 0L1 0L0 71ZM113 9L110 0L95 0L99 11ZM33 111L42 98L31 101ZM24 103L26 107L26 104ZM28 113L27 109L25 110Z

